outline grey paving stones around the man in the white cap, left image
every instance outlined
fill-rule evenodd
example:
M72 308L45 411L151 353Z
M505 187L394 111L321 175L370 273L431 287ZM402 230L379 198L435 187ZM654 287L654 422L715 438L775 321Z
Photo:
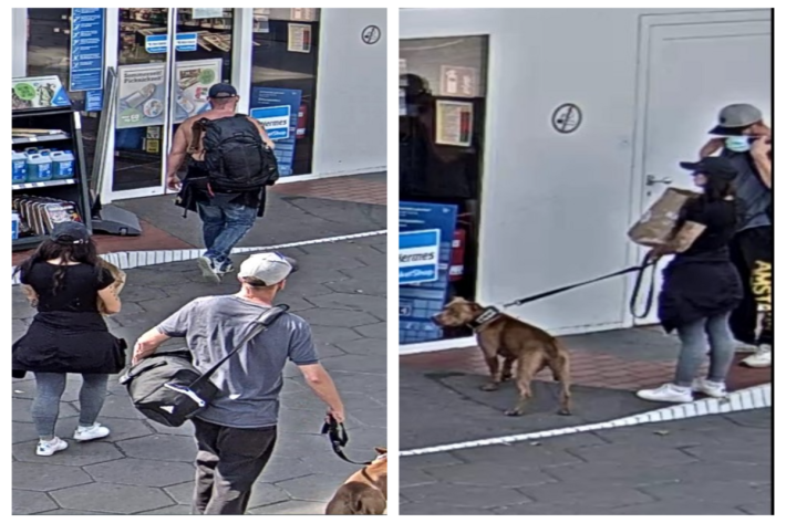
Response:
M259 227L270 227L271 220ZM378 228L384 224L369 224L366 230ZM319 236L312 232L309 239ZM313 326L322 362L347 404L348 451L355 459L369 458L373 447L386 442L385 245L386 237L380 236L285 251L299 260L301 270L280 301ZM134 269L123 291L123 312L111 317L110 325L133 343L189 300L235 291L231 279L221 285L205 283L194 262ZM19 287L13 289L12 314L17 339L33 315ZM356 470L340 461L319 435L324 408L298 375L288 367L279 443L256 485L252 514L322 513L330 495ZM76 423L79 381L69 380L58 426L61 437L70 438ZM196 454L188 427L146 421L113 379L101 416L112 436L90 443L70 441L69 450L39 458L30 419L33 393L30 378L13 380L13 514L188 513Z

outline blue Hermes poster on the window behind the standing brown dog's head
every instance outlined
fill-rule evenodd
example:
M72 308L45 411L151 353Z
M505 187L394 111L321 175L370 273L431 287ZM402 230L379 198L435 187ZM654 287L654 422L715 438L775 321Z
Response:
M431 317L445 306L447 299L457 212L456 206L399 203L399 233L405 238L399 240L399 339L402 344L442 338L442 328ZM420 234L410 234L414 232ZM438 244L436 280L428 273L435 240ZM411 284L407 280L422 283Z

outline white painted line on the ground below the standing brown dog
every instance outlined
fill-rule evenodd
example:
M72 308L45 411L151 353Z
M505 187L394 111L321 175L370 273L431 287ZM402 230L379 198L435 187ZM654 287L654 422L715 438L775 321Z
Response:
M618 427L630 427L633 425L644 425L660 422L672 419L696 418L709 416L712 414L738 412L743 410L753 410L758 408L767 408L773 406L773 387L772 384L759 385L743 390L736 390L728 395L728 398L705 398L691 404L672 405L650 412L628 416L624 418L606 421L601 423L590 423L578 427L566 427L561 429L542 430L539 432L529 432L523 435L501 436L498 438L487 438L474 441L463 441L458 443L438 444L435 447L424 447L422 449L402 450L399 452L400 458L408 458L412 456L435 454L439 452L451 452L456 450L465 450L478 447L492 447L496 444L511 444L519 441L534 439L554 438L576 432L586 432L588 430L608 430Z

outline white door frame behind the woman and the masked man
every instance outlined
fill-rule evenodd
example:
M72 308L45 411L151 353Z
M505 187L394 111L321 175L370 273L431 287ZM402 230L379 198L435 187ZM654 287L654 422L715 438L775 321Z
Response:
M633 161L630 184L630 211L629 222L635 222L642 213L645 201L645 161L647 150L647 116L650 100L650 61L652 51L653 29L663 25L700 25L707 23L730 22L771 22L773 17L769 9L732 9L717 11L703 11L671 14L644 14L639 19L639 50L635 80L635 114L633 128ZM628 265L635 265L643 259L647 249L633 242L628 242ZM623 304L624 325L627 327L652 325L650 320L638 320L628 307L628 302L633 292L631 279L625 281L625 300Z

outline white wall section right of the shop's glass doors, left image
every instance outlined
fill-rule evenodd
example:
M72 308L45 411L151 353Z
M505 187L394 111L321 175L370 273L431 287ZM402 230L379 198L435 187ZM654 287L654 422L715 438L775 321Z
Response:
M314 175L374 172L387 165L385 9L324 9L317 73ZM382 29L374 45L368 25Z

